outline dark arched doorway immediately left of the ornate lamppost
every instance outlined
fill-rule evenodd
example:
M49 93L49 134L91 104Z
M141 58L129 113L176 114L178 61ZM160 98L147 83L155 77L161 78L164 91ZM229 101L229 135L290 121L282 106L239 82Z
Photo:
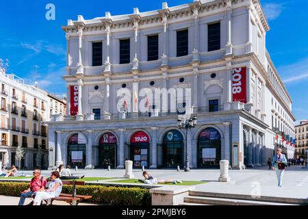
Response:
M177 130L168 131L163 138L163 166L183 167L183 136Z

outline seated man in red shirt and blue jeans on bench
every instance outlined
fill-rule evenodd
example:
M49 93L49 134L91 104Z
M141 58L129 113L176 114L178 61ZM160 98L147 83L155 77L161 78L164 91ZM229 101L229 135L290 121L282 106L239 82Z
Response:
M36 192L40 192L45 189L47 181L44 177L41 177L40 174L40 169L35 169L33 171L33 178L30 181L30 186L27 190L21 193L21 199L19 200L18 205L23 205L25 203L25 198L35 198Z

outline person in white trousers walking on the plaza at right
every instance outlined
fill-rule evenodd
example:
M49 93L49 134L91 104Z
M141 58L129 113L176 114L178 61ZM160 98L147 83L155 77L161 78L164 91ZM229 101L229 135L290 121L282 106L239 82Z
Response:
M287 159L282 152L281 148L278 148L276 155L272 158L272 170L276 171L278 186L282 186L283 174L285 172L285 166L287 166Z

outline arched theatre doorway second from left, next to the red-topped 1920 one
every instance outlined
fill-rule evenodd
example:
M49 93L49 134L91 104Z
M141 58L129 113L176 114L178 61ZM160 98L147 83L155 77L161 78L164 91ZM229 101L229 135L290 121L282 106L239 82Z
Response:
M104 133L99 139L99 167L116 168L116 136Z

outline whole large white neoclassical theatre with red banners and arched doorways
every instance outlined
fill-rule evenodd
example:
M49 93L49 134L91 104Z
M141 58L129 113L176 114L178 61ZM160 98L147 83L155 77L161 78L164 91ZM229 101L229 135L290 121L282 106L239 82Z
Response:
M190 168L227 159L242 169L266 164L277 146L294 156L283 141L294 138L292 99L266 50L270 27L259 0L79 15L62 29L68 105L49 123L50 168L124 168L128 159L134 168L183 168L188 152ZM159 96L146 99L149 112L136 112L143 88L191 92L175 112ZM131 95L119 96L123 89ZM187 99L197 123L186 133L177 119L188 114Z

